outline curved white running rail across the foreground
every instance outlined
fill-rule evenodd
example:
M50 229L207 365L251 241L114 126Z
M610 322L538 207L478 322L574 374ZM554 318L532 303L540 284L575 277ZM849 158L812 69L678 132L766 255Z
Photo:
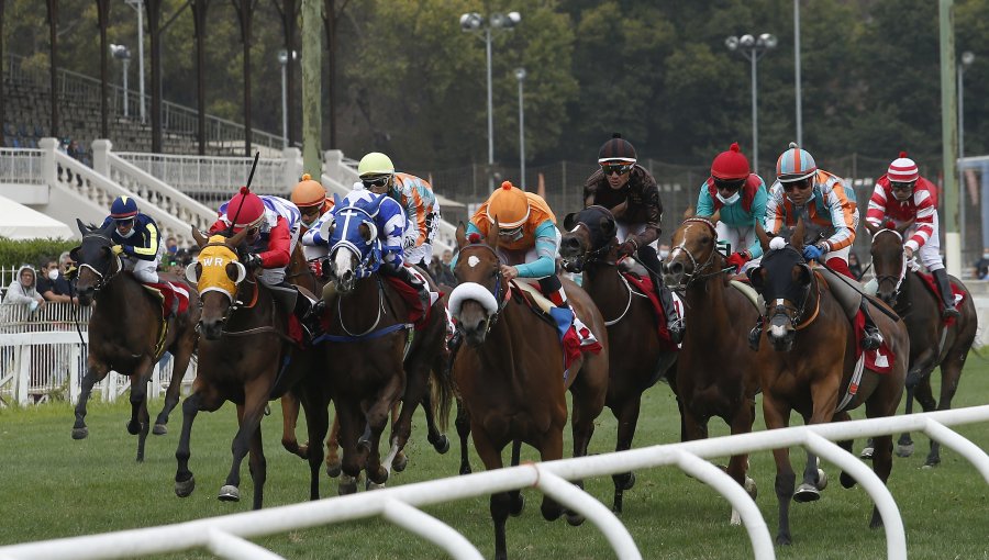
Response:
M0 547L0 560L133 558L205 548L221 558L252 560L281 558L247 538L281 534L373 516L401 526L430 540L454 558L482 558L477 548L453 527L418 507L509 490L536 488L564 506L584 515L600 529L618 558L640 559L631 535L611 511L567 480L603 477L615 472L677 466L711 485L731 502L748 531L754 557L776 558L769 528L748 494L707 459L801 446L844 470L876 503L887 539L887 556L907 558L907 534L896 502L870 467L833 441L923 432L958 452L989 483L989 456L947 426L989 422L989 405L837 424L794 426L738 436L653 446L616 453L524 464L464 477L407 484L258 512L211 517L163 527L109 533L87 537ZM951 538L952 527L945 538ZM437 555L438 556L438 555Z

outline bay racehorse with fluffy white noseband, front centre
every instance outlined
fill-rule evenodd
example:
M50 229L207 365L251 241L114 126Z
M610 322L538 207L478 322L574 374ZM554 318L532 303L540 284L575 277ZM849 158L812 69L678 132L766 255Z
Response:
M511 298L497 253L499 231L496 223L487 242L468 243L464 224L457 227L460 253L454 276L458 284L449 295L449 311L464 343L453 372L470 417L474 447L488 470L503 466L501 452L509 443L512 464L519 463L522 443L535 447L543 461L560 459L569 385L574 456L585 456L608 391L604 320L585 291L564 281L570 304L602 346L600 354L580 355L565 377L563 350L553 351L560 348L556 326ZM509 514L521 514L522 506L519 491L491 496L496 558L505 558L505 520ZM548 495L543 496L541 511L547 520L564 513ZM568 514L567 520L578 525L584 519Z

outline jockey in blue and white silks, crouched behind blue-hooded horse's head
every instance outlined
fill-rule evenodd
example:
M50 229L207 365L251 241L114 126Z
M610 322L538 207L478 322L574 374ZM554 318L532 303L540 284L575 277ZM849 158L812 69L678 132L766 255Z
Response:
M302 245L319 247L322 249L322 255L325 256L330 250L330 239L323 238L320 227L325 222L333 220L336 211L352 205L365 205L378 198L378 194L365 189L364 184L364 182L355 183L354 190L337 201L334 212L326 212L320 216L316 223L302 236ZM404 265L402 239L404 238L405 214L402 212L402 206L391 197L385 197L378 213L374 215L374 220L378 231L378 239L381 242L381 266L378 270L384 275L397 277L414 288L422 302L423 312L425 312L430 309L430 288L412 273L410 267ZM323 270L329 270L326 265L323 265ZM326 303L326 300L334 296L331 284L327 283L326 288L330 288L330 290L323 290L321 306Z

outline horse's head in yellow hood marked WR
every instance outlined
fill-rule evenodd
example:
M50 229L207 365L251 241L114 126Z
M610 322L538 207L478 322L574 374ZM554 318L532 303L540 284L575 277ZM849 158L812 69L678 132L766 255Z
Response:
M236 247L246 235L247 229L242 229L230 238L222 235L207 238L192 228L192 237L199 244L199 257L186 267L186 279L195 283L199 292L202 305L199 331L209 340L220 338L230 313L236 309L237 287L247 277Z

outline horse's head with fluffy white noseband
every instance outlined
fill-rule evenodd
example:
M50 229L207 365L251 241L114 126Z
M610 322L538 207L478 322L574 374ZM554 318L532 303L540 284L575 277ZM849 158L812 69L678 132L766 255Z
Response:
M468 239L464 231L460 224L457 227L459 254L454 267L458 283L449 294L447 306L464 340L477 347L498 318L507 285L497 253L500 231L497 220L487 240L475 235Z

